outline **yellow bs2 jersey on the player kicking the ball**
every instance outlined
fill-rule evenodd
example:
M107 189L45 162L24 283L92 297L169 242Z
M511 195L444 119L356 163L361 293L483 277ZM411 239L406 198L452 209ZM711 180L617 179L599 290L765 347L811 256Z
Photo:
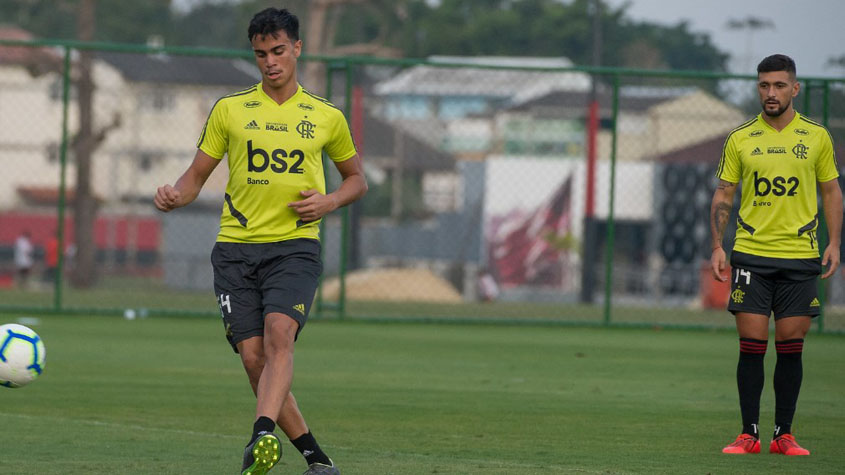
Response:
M229 157L229 181L218 242L319 239L319 221L303 223L288 203L309 189L326 192L322 152L335 162L355 156L343 113L298 86L277 104L256 84L222 97L197 147Z

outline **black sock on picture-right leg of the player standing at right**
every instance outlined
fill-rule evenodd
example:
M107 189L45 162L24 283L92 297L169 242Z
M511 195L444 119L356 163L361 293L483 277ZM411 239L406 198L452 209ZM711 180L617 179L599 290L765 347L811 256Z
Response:
M792 417L798 403L798 392L801 391L801 380L804 377L804 366L801 355L804 351L804 340L776 341L778 362L775 365L775 433L778 437L792 433Z

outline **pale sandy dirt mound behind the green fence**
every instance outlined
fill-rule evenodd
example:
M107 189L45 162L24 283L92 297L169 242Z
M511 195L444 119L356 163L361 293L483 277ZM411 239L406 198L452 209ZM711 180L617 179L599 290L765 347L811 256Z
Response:
M323 296L338 298L337 277L323 283ZM346 275L349 300L388 300L460 303L461 294L448 281L428 269L366 269Z

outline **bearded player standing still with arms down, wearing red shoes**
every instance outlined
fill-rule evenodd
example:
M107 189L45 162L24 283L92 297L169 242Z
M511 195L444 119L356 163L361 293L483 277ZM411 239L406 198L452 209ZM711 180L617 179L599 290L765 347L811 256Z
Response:
M775 427L769 452L809 455L792 435L801 388L801 353L810 323L819 314L816 282L839 266L842 191L833 143L820 124L793 109L800 84L795 62L769 56L757 66L757 92L763 111L737 127L725 141L710 207L713 277L726 281L722 235L742 181L728 311L736 317L739 364L736 370L742 433L722 452L760 452L760 394L769 316L775 318ZM816 186L821 191L828 244L821 262ZM827 266L824 269L824 266Z

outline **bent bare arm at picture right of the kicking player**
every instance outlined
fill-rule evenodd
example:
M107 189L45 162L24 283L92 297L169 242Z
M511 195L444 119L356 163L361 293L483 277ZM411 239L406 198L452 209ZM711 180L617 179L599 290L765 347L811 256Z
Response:
M367 178L364 176L364 166L358 154L334 164L343 177L343 182L335 191L324 195L312 188L300 192L304 199L288 203L303 221L316 221L367 193Z

